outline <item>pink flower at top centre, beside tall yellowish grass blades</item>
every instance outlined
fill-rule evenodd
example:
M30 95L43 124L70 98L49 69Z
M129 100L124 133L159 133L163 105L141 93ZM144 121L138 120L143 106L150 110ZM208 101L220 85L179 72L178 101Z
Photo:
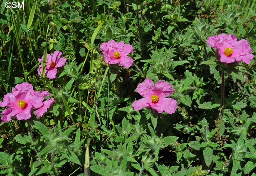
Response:
M104 61L107 64L117 64L125 68L129 68L133 60L128 57L129 53L133 53L133 47L129 44L124 44L123 41L116 42L114 40L108 41L108 43L101 43L99 49L102 50Z

